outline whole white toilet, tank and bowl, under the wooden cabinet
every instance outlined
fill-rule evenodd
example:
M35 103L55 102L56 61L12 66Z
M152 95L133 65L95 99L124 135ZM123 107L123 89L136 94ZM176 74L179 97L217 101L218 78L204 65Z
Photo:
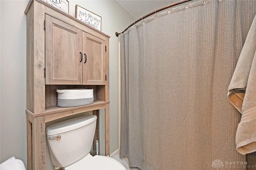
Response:
M108 156L92 156L96 115L76 117L46 128L52 164L63 170L126 170Z

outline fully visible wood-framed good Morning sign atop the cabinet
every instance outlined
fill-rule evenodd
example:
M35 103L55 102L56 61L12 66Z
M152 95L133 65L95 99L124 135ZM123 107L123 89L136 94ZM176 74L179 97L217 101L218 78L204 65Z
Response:
M101 31L101 16L98 16L79 5L76 5L76 18Z

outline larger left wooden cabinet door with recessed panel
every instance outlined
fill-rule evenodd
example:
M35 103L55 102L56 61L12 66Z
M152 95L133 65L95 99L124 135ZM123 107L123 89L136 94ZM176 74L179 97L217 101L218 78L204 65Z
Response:
M82 31L46 15L46 84L82 84Z

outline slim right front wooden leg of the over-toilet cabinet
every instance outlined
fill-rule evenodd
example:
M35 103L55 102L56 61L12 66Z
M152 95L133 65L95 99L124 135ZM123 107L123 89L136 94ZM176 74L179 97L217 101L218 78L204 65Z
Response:
M110 152L109 147L109 104L105 108L105 155L108 156Z

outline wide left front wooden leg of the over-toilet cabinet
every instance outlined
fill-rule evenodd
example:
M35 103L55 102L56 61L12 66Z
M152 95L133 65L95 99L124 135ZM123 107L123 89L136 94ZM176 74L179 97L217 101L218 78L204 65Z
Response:
M34 117L32 123L33 170L45 170L45 121L43 116Z

